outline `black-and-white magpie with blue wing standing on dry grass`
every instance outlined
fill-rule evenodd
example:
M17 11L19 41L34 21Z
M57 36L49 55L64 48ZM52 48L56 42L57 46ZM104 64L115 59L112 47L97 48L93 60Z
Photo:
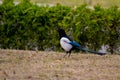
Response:
M98 55L105 55L106 53L103 52L96 52L94 50L88 50L87 48L81 46L78 42L72 40L65 32L63 28L57 28L57 32L59 33L59 40L60 40L60 45L62 49L66 52L66 54L63 56L68 55L70 57L71 51L74 49L79 49L84 52L89 52L93 54L98 54Z

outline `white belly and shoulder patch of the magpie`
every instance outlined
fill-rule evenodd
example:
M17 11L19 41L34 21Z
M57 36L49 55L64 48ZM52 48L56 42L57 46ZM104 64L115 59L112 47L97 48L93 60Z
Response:
M70 51L72 49L72 45L69 44L71 41L65 37L60 39L60 45L65 51Z

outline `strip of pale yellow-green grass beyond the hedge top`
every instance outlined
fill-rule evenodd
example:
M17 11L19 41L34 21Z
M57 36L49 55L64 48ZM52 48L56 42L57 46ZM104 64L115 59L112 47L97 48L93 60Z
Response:
M120 7L120 0L91 0L91 6L100 4L103 7L110 7L117 5ZM49 3L49 4L63 4L68 6L78 6L83 3L89 3L89 0L31 0L31 2L39 2L39 3Z

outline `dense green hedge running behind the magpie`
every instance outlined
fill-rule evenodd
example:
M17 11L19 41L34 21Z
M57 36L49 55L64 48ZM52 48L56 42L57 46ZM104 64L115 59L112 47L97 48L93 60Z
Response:
M104 44L109 45L111 53L119 53L120 10L116 6L98 5L94 10L87 5L45 7L29 0L21 0L18 5L4 0L0 5L0 48L60 50L57 27L90 49L99 50Z

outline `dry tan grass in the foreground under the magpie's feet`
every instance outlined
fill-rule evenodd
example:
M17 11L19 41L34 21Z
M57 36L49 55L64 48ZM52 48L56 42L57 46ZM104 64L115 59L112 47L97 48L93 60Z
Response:
M0 80L120 80L120 56L0 50Z

